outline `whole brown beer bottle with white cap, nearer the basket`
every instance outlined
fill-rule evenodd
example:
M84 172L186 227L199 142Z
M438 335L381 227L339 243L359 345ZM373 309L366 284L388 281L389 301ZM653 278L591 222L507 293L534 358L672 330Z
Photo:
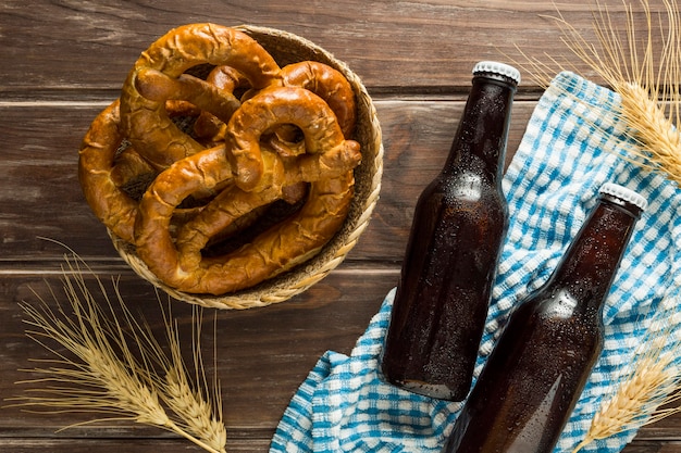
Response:
M520 73L480 62L449 155L417 202L382 358L384 378L460 401L470 389L508 226L500 179Z

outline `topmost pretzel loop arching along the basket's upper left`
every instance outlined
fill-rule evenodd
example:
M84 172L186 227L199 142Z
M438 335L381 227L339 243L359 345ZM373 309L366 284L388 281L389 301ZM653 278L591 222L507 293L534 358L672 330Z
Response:
M200 64L227 64L258 89L281 77L274 59L255 39L233 28L190 24L171 30L153 42L143 52L124 83L121 128L133 147L159 169L203 150L203 147L175 126L163 102L147 99L138 91L137 77L154 70L177 78Z

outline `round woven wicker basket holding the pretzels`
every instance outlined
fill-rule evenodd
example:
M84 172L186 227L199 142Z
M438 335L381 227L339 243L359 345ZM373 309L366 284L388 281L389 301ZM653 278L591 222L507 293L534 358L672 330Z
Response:
M276 60L280 66L299 61L318 61L342 72L352 86L358 116L355 137L361 144L362 162L355 169L355 197L340 230L312 259L277 277L255 287L224 294L189 294L170 288L153 275L135 253L135 247L110 231L111 239L123 260L144 279L171 297L188 303L214 309L251 309L278 303L307 290L343 262L367 228L379 200L383 172L383 143L376 112L362 85L346 64L314 43L296 35L264 27L242 25L237 29L256 39Z

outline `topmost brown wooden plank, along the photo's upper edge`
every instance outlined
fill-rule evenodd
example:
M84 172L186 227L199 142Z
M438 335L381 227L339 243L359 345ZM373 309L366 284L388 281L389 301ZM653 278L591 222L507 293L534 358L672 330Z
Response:
M623 3L600 1L623 24ZM635 3L635 2L634 2ZM596 2L560 3L565 18L589 41ZM651 1L664 11L661 0ZM641 11L634 4L635 11ZM306 37L334 53L372 89L438 92L466 86L473 63L484 59L547 61L569 58L550 2L525 0L418 0L410 2L213 2L4 1L0 7L1 91L119 89L139 53L169 29L193 22L249 23ZM642 28L644 17L635 21ZM643 28L642 28L643 29ZM436 43L435 46L433 43ZM528 80L529 83L529 80Z

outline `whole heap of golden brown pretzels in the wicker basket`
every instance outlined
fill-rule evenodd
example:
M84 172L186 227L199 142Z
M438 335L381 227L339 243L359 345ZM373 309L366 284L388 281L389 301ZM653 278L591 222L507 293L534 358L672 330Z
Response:
M215 66L206 80L185 73L200 64ZM240 100L237 87L248 90ZM197 139L174 114L197 118ZM191 24L135 63L120 101L83 140L79 177L97 216L163 284L220 295L307 261L338 231L361 160L355 122L354 91L337 71L280 70L246 34ZM121 187L143 173L153 180L137 202ZM302 206L236 250L203 253L277 200Z

